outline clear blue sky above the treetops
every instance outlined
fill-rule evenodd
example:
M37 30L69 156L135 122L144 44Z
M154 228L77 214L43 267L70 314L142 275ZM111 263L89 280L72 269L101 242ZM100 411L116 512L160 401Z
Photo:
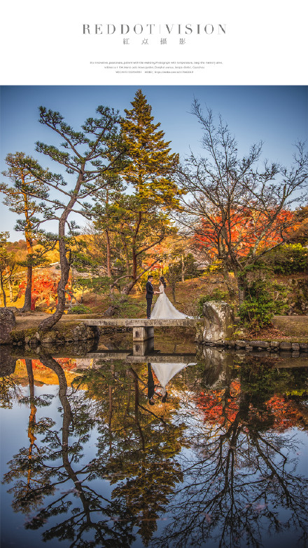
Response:
M36 140L55 144L52 131L38 123L40 105L61 112L78 130L87 117L94 116L97 105L114 107L124 114L139 87L152 106L155 122L160 121L165 139L172 141L173 152L182 158L190 148L201 152L202 131L190 114L194 97L228 122L240 154L262 140L264 158L288 165L292 145L308 137L308 86L3 86L1 171L6 168L8 152L25 152L43 166L59 171L35 152ZM5 180L2 175L1 180ZM2 203L0 208L0 231L8 230L11 240L22 238L13 231L15 215Z

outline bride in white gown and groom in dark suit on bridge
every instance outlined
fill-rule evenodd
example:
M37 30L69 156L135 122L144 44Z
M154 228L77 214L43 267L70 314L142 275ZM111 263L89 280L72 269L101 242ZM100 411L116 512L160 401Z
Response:
M185 319L188 316L182 314L179 310L172 305L172 303L167 298L165 294L165 288L167 283L165 282L164 276L160 276L160 286L159 291L155 291L152 285L153 276L148 276L148 281L146 282L146 317L147 319ZM158 300L155 302L152 314L151 306L153 295L158 295Z

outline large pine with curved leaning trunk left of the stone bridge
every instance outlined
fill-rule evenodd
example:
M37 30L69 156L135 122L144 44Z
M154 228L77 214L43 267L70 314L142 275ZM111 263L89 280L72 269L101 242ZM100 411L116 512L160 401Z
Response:
M108 175L117 174L123 167L122 159L124 149L118 133L120 116L118 111L103 107L97 107L97 117L87 118L82 131L75 131L65 121L59 112L40 107L39 121L50 128L56 138L62 138L59 148L55 145L46 145L43 142L36 142L36 151L49 156L62 170L69 174L68 180L59 173L47 173L42 169L27 163L29 171L35 178L47 185L52 192L50 199L45 199L48 205L46 220L57 220L59 243L59 260L61 267L61 278L57 286L57 308L54 314L44 319L38 326L41 331L46 331L57 323L62 317L66 302L66 284L69 280L71 267L70 241L66 235L76 231L76 222L69 220L71 213L83 215L89 220L91 218L92 203L87 199L93 196L102 188L110 186ZM66 189L70 183L71 188Z

